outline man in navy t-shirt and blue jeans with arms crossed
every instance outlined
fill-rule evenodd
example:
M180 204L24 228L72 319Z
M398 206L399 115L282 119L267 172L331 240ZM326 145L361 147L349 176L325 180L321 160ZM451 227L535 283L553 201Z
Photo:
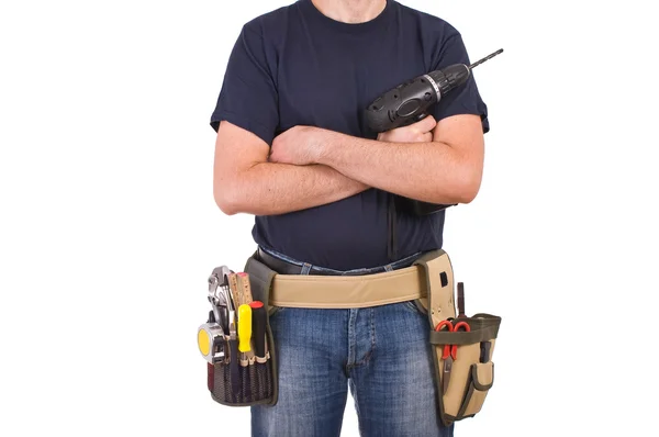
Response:
M489 123L473 78L407 127L376 135L362 112L456 63L469 64L458 31L393 0L299 0L250 21L211 119L217 205L256 216L273 270L372 274L440 248L445 212L392 221L388 193L474 199ZM365 436L453 435L436 414L427 316L413 303L284 307L270 324L279 401L252 408L254 436L338 436L348 386Z

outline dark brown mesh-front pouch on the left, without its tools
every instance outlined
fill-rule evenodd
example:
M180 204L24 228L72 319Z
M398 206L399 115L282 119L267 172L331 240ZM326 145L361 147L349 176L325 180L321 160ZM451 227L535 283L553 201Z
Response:
M275 341L270 329L269 293L275 272L261 262L247 260L244 272L249 277L254 301L261 301L266 311L266 357L238 360L238 379L233 381L231 360L208 363L208 388L215 402L228 406L250 406L257 404L275 405L278 396L277 359ZM253 348L254 350L254 348ZM235 372L235 370L234 370ZM235 374L235 373L234 373Z

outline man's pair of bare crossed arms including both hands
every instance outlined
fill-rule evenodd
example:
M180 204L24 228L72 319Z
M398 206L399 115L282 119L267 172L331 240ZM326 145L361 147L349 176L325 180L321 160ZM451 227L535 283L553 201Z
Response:
M355 195L369 188L432 203L469 203L480 189L484 141L480 116L432 116L365 139L295 126L270 148L223 121L213 195L225 214L276 215Z

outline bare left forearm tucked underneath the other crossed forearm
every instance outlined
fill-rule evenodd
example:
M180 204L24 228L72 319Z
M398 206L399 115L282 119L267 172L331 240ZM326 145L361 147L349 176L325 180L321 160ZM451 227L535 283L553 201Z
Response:
M368 187L323 165L259 163L225 181L228 214L277 215L339 201Z

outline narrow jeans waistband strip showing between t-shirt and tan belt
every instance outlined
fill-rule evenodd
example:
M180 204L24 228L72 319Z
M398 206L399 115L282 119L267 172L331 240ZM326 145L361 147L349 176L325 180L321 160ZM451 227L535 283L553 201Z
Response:
M279 274L317 274L317 276L365 276L382 273L386 271L399 270L412 266L412 264L422 255L413 254L409 257L386 266L378 266L366 269L335 270L326 267L313 266L309 262L299 261L272 249L258 247L256 257L259 261L275 270Z

